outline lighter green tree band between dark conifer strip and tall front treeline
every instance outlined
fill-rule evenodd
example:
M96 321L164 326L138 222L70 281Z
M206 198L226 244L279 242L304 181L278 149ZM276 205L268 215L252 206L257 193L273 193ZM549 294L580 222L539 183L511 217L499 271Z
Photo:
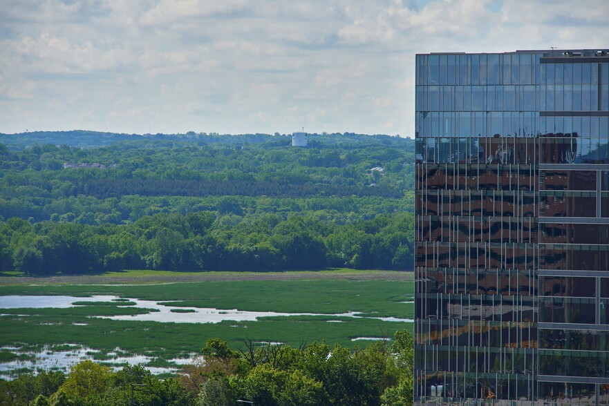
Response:
M413 211L414 193L404 198L379 196L348 197L268 197L268 196L140 196L125 195L97 199L92 196L71 197L0 197L0 213L4 218L19 217L29 222L51 220L79 224L129 224L144 215L212 211L224 215L259 216L267 213L290 215L303 213L337 224L371 220L384 213ZM0 221L4 220L0 218Z

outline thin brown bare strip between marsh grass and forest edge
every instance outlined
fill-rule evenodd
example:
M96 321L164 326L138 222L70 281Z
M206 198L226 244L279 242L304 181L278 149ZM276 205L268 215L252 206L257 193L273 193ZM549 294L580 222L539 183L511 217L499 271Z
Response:
M0 286L16 284L151 284L238 280L413 280L412 271L154 272L78 276L0 276Z

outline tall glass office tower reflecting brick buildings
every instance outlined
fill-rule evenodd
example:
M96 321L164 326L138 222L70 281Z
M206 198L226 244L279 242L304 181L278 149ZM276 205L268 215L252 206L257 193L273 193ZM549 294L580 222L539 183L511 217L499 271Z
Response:
M416 57L415 403L609 405L609 52Z

